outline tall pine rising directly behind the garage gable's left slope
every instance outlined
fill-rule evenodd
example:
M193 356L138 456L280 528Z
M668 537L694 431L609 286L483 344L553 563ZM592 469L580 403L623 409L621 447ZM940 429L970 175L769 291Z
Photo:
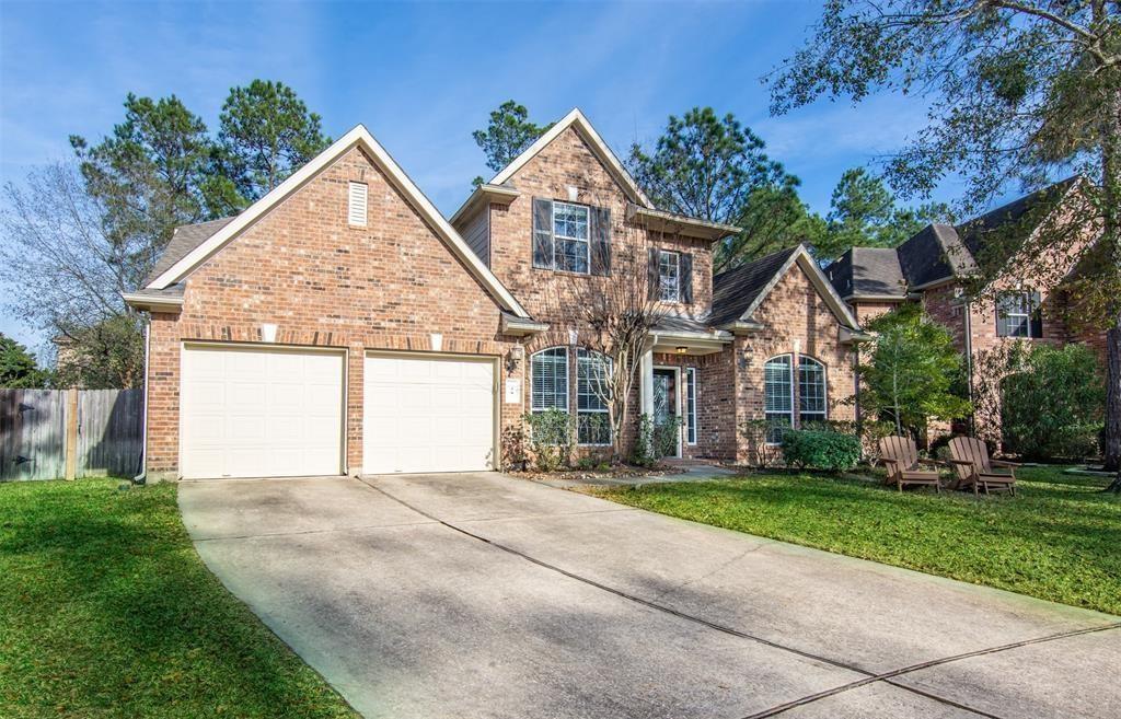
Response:
M231 87L219 115L219 160L238 192L253 202L324 148L321 118L281 82L254 80Z

